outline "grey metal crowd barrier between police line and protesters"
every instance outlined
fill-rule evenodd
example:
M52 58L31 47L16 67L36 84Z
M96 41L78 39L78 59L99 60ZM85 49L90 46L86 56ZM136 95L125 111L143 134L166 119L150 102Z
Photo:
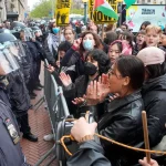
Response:
M49 65L46 60L44 60L44 63L45 65ZM56 141L58 123L68 117L70 113L62 87L58 85L54 76L48 71L46 68L44 69L44 95L34 105L34 111L38 111L38 108L43 103L45 104L45 108L48 110L50 116L54 141ZM52 159L50 159L49 163L45 164L45 166L49 166L56 158L55 147L56 142L54 143L53 147L45 155L43 155L34 166L40 166L45 158L53 154Z

